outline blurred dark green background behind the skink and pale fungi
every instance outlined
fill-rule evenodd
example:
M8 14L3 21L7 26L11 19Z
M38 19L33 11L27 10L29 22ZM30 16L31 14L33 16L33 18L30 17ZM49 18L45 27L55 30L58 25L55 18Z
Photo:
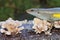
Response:
M0 0L0 21L12 17L16 20L31 20L34 16L25 10L30 8L60 7L60 0Z

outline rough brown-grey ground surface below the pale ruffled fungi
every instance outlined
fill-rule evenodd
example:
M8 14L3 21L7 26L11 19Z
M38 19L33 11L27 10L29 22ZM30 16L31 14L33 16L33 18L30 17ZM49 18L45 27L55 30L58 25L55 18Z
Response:
M15 36L7 36L0 33L0 40L60 40L60 30L53 29L51 36L45 35L44 33L35 34L35 32L28 32L27 30L24 30L21 34Z

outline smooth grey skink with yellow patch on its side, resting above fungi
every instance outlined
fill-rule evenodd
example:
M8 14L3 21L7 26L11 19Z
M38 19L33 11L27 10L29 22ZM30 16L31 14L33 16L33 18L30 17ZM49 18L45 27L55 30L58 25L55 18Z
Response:
M60 8L31 8L26 12L44 20L60 20Z

